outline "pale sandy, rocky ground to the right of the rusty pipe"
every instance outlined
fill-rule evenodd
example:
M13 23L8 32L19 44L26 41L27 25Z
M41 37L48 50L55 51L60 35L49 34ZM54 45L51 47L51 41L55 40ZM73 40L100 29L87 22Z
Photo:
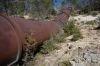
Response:
M66 37L66 41L60 44L60 49L36 60L34 66L62 66L63 61L69 61L72 66L100 66L100 30L94 30L98 26L96 24L85 24L88 19L90 20L90 17L85 17L74 17L82 33L82 39L72 42L72 36ZM95 20L92 17L91 19Z

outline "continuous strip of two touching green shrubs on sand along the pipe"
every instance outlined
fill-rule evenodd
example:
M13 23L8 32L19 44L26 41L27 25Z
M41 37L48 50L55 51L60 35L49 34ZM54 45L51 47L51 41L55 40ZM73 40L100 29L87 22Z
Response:
M47 54L50 51L59 49L59 42L64 41L65 36L73 35L72 41L76 41L82 38L79 28L75 25L74 20L69 21L65 27L64 32L60 29L58 32L53 33L49 40L43 42L43 45L40 48L41 54Z

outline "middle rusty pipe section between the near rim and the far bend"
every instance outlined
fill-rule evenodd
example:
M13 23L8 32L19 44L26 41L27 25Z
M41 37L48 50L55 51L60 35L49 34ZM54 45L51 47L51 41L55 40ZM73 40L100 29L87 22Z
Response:
M10 17L13 18L14 21L19 24L21 30L26 33L30 34L33 33L33 39L36 42L43 42L46 40L52 32L55 32L58 29L58 25L52 21L50 22L42 22L42 21L32 21L32 20L25 20L24 18L18 17Z

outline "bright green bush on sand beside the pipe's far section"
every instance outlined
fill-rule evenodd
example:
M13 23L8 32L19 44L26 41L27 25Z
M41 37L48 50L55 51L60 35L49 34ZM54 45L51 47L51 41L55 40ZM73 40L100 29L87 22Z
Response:
M73 35L72 41L76 41L82 38L79 28L75 25L75 21L71 20L67 24L65 24L64 32L66 36Z

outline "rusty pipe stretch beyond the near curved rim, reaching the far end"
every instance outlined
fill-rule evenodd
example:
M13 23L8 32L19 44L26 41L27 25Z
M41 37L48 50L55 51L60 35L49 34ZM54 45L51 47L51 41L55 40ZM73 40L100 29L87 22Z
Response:
M52 21L33 21L33 20L25 20L20 17L10 17L12 21L15 21L19 24L22 32L26 33L34 33L33 39L36 42L43 42L47 38L50 37L50 34L59 30L59 27L63 26L69 18L71 14L71 9L63 9L62 14L58 15Z

